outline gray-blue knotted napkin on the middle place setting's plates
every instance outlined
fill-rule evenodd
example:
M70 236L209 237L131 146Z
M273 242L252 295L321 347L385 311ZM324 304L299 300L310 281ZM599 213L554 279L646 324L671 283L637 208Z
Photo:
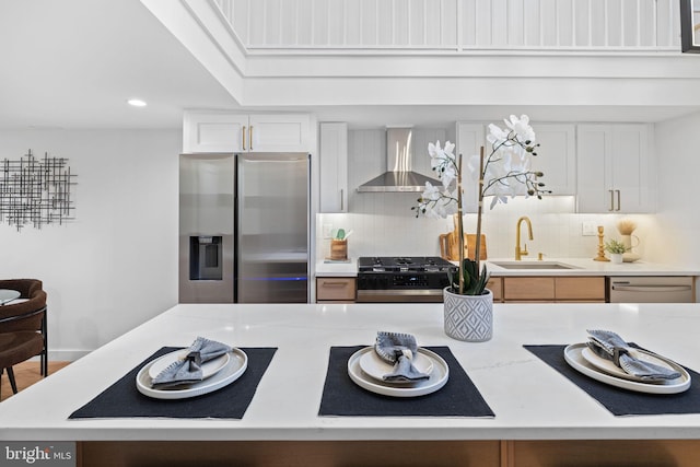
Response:
M386 382L406 383L430 377L413 366L418 345L410 334L380 331L376 334L374 350L382 360L394 365L393 372L382 377Z

